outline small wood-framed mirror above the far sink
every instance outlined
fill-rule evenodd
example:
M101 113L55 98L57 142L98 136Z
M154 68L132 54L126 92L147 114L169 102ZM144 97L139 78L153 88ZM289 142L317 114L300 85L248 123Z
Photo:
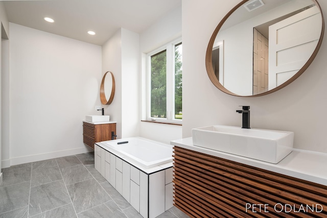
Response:
M114 83L113 74L112 72L107 71L103 75L101 86L100 86L100 100L103 105L111 104L114 97L114 89L115 89L115 83Z

